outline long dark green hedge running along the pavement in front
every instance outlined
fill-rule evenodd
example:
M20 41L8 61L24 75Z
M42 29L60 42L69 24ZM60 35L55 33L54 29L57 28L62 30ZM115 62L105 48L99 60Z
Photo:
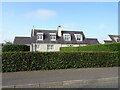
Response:
M3 52L3 72L118 66L118 52Z

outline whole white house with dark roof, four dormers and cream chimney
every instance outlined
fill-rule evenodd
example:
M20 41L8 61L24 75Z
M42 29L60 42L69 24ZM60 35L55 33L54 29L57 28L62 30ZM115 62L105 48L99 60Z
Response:
M79 47L99 44L96 38L85 38L82 31L32 29L31 37L15 37L14 44L26 44L30 51L59 51L60 47Z

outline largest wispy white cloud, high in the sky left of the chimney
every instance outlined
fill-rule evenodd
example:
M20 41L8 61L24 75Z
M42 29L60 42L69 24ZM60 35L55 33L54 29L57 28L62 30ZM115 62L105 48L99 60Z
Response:
M56 12L52 10L36 10L26 14L29 18L36 18L36 19L49 19L51 17L56 16Z

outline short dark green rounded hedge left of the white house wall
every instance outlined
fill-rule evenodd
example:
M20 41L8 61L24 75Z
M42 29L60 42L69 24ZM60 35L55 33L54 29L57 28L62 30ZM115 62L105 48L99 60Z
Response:
M10 44L10 45L4 45L2 47L3 52L9 52L9 51L30 51L30 47L27 45L21 45L21 44Z

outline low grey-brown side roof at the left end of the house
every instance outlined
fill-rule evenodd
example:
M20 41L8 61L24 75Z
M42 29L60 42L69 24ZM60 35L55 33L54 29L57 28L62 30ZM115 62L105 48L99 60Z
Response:
M31 44L30 37L15 37L14 44Z

